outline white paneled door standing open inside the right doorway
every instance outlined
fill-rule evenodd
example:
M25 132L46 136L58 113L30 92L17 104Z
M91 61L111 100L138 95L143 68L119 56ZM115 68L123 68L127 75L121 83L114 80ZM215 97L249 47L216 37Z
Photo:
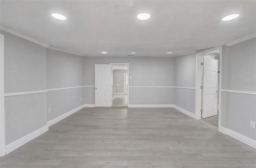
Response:
M217 115L218 60L204 57L202 118Z

